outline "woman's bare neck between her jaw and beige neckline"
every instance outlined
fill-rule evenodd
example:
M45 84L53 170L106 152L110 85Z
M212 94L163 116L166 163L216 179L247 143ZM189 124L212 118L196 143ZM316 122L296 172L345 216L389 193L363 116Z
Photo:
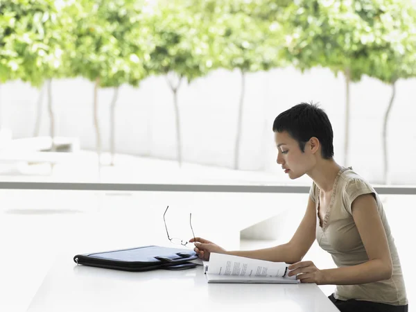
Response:
M319 159L319 161L315 164L312 170L307 173L307 175L311 177L320 191L327 193L332 191L336 176L342 168L343 166L337 164L333 158Z

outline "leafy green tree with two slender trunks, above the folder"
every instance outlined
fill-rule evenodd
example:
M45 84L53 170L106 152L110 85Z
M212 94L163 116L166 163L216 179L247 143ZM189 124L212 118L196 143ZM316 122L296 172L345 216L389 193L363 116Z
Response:
M101 132L98 120L98 88L114 87L111 104L111 151L114 163L114 113L118 88L124 83L137 86L144 78L148 60L149 28L141 23L144 1L74 1L65 8L71 16L72 42L67 60L72 76L94 82L94 128L96 150L101 157ZM137 31L137 29L139 31ZM149 46L149 48L146 48Z

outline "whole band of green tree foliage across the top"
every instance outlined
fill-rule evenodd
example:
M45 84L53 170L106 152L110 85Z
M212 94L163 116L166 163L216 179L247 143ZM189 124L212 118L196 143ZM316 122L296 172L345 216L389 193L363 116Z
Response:
M286 64L349 69L353 81L416 75L406 0L0 0L0 12L0 82L83 76L112 87Z

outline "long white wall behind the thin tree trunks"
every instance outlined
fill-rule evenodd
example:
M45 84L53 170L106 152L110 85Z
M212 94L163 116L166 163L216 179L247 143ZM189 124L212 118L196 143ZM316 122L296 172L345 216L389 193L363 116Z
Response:
M295 69L252 73L246 80L243 112L241 167L244 170L277 173L288 182L275 164L272 122L277 114L301 101L320 102L334 130L335 157L343 162L345 81L326 69L304 74ZM397 83L397 96L388 128L391 182L416 184L416 80ZM183 156L186 162L232 168L236 116L239 103L238 71L215 71L179 91ZM383 114L391 88L363 78L351 86L349 163L371 182L382 177L381 131ZM112 89L98 93L103 149L108 150ZM20 82L0 87L1 123L11 128L13 137L30 137L35 125L35 103L39 91ZM79 137L82 148L94 149L92 115L93 85L87 80L53 81L56 133ZM123 86L116 109L118 153L175 159L175 119L172 94L163 77L145 80L138 89ZM42 135L49 133L44 97Z

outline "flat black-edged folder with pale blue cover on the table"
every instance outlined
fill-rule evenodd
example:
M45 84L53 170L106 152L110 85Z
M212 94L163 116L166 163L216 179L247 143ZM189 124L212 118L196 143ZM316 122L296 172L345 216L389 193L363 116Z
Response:
M150 245L107 252L77 254L73 257L73 261L78 265L137 272L156 269L185 270L195 268L197 264L188 261L197 258L198 255L193 250Z

